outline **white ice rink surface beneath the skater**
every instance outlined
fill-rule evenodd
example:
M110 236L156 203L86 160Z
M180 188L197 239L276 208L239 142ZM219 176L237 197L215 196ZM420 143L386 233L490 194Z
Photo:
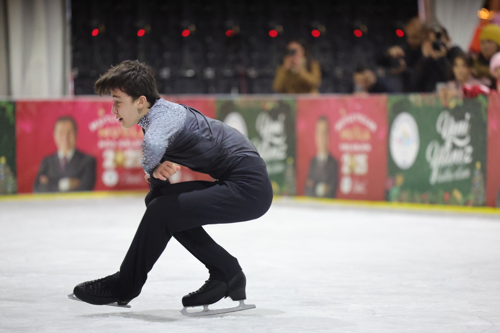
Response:
M138 196L0 201L0 331L500 332L498 217L276 202L206 227L255 309L181 315L208 273L173 238L131 308L68 299L118 270L144 209Z

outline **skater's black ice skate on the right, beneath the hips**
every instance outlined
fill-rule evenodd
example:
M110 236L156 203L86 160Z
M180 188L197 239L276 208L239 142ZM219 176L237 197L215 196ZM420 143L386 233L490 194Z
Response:
M245 304L246 278L243 271L236 274L229 282L223 282L215 279L208 278L198 290L189 292L182 297L182 305L184 306L180 311L183 315L198 316L208 314L220 314L227 312L234 312L254 308L254 304ZM232 300L239 300L239 305L229 308L221 308L210 310L209 304L213 304L222 298L230 297ZM187 312L187 307L203 306L202 311Z

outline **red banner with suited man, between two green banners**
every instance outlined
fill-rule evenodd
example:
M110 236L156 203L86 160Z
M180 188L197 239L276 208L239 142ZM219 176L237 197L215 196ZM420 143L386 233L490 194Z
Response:
M297 99L297 195L383 200L387 98Z

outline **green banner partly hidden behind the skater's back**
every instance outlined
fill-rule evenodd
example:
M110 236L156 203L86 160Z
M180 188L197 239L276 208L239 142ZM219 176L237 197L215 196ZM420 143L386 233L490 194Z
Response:
M295 194L295 100L219 99L217 119L245 134L267 165L274 194Z

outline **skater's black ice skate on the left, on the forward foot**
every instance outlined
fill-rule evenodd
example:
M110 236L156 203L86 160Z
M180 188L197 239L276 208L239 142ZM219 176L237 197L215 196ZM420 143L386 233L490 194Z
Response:
M119 272L116 272L97 280L77 284L73 289L73 293L67 296L94 305L130 307L130 305L127 305L130 299L121 300L111 291L110 285L114 283L118 275Z

